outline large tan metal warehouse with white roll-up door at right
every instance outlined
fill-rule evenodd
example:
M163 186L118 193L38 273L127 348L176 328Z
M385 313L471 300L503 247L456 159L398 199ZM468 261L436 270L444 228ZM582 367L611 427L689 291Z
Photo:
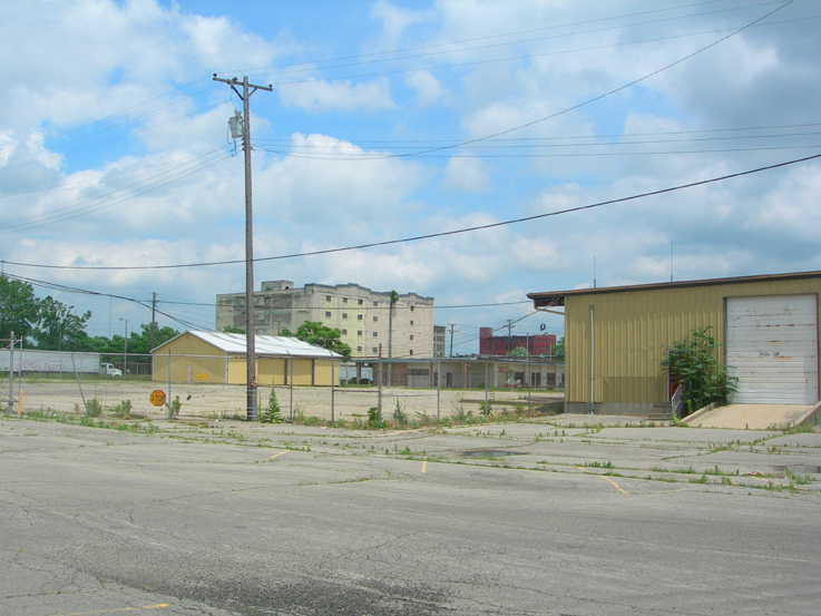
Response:
M669 400L665 348L710 325L739 377L731 402L819 400L821 272L530 293L565 307L567 412L649 414Z

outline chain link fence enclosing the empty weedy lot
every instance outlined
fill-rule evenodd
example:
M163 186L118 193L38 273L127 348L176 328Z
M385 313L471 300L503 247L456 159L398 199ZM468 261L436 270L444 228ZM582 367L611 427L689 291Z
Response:
M120 361L66 352L37 359L18 350L18 355L11 380L8 358L6 364L0 362L0 371L6 370L0 372L3 374L0 391L4 393L3 402L6 398L9 400L7 412L82 413L86 402L95 400L104 414L127 407L134 418L162 418L167 415L168 404L176 401L178 418L184 420L246 417L244 382L198 380L203 373L196 366L206 360L214 361L209 355L170 358L169 361L178 359L184 366L175 371L176 379L170 380L169 370L158 370L152 379L150 355L120 356ZM267 407L272 391L281 417L300 422L364 422L375 410L382 420L424 424L432 419L478 417L481 412L535 415L564 409L563 364L498 358L359 363L359 366L336 363L330 385L304 384L312 378L306 373L300 383L293 371L289 374L287 370L267 382L261 381L257 388L260 410ZM152 397L157 390L164 393L164 405L155 407L152 401L158 399Z

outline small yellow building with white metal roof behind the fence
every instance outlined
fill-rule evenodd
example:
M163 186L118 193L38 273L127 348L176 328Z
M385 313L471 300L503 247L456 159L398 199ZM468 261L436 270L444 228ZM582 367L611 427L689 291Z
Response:
M295 338L257 335L254 341L260 385L328 387L339 379L338 353ZM245 353L245 334L188 331L152 352L153 379L244 384Z

